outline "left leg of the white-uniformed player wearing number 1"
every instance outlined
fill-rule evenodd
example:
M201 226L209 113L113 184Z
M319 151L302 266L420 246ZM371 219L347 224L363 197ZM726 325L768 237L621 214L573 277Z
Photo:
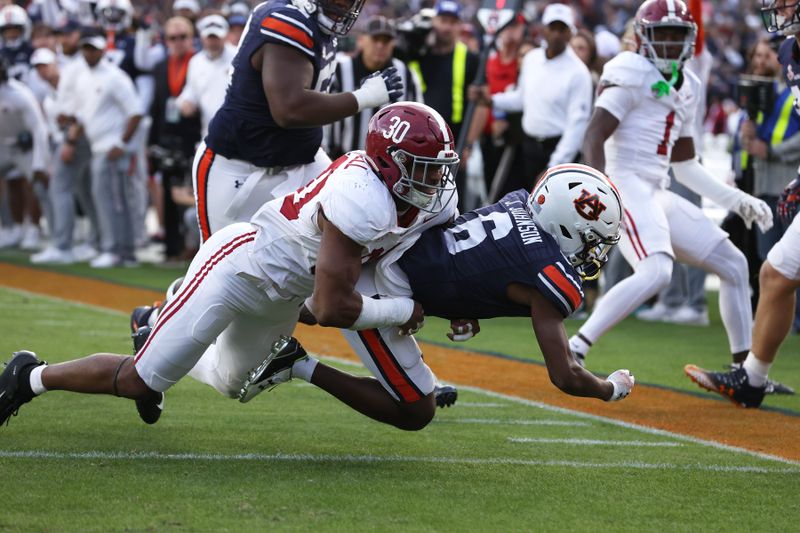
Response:
M570 338L570 349L579 361L606 331L666 287L672 276L670 230L656 198L659 191L635 177L619 180L620 184L625 209L619 249L634 271L603 296L603 304Z

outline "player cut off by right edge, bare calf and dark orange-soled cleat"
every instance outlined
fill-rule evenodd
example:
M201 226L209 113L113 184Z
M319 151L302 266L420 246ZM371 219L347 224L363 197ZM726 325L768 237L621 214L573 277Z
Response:
M778 51L786 83L795 97L795 110L800 112L800 3L787 0L764 0L761 8L764 25L770 33L780 32L786 39ZM792 38L794 37L794 38ZM783 192L778 212L791 220L786 233L770 249L761 266L761 296L753 327L753 347L741 366L729 372L709 372L695 365L684 371L692 381L717 392L741 407L759 407L769 381L769 369L792 327L795 294L800 288L800 177ZM794 217L794 220L792 218Z

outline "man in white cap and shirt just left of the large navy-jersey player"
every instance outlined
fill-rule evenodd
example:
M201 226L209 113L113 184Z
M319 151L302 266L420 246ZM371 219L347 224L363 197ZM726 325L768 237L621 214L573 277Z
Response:
M225 100L231 63L236 55L236 48L225 42L228 29L228 21L220 15L209 15L197 22L203 50L189 61L186 85L178 96L183 116L200 113L203 137L208 133L208 123Z

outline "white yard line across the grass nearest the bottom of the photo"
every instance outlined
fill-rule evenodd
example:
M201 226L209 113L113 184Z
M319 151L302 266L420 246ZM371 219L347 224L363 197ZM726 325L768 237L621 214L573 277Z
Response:
M707 472L733 472L748 474L800 474L797 468L768 468L757 466L728 466L703 464L643 463L622 461L619 463L591 463L582 461L539 461L513 458L470 457L415 457L378 455L315 455L315 454L214 454L214 453L137 453L137 452L48 452L0 450L0 459L51 459L88 461L259 461L259 462L314 462L314 463L427 463L469 464L533 467L569 467L577 469L623 469L623 470L699 470Z

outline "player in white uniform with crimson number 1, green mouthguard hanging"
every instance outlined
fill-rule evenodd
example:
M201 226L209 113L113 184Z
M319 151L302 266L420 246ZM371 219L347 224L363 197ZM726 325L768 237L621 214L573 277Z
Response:
M634 274L603 298L570 347L580 360L603 333L669 283L673 261L720 278L720 314L734 361L751 345L747 260L695 205L666 190L668 170L693 191L762 231L772 226L764 202L711 175L695 156L692 133L698 79L682 68L697 26L683 0L646 0L636 13L638 50L609 61L600 78L584 140L587 164L617 184L625 206L620 250Z

